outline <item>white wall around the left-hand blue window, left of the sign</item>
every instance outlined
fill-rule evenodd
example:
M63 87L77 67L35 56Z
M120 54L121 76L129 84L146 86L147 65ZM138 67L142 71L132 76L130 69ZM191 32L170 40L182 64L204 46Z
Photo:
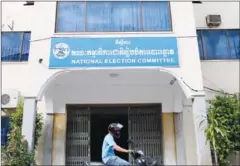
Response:
M39 66L39 54L49 53L49 38L54 33L56 2L35 2L34 6L23 6L25 2L2 2L2 31L12 31L7 24L13 25L13 31L31 31L30 56L28 62L2 63L2 87L18 89L24 95L26 91L35 88L28 81L33 75L41 77L48 71L46 66ZM44 10L44 12L43 12ZM3 26L4 24L4 26ZM40 39L40 41L39 41ZM42 42L41 42L42 41ZM40 45L39 42L41 43ZM36 43L36 44L33 44ZM45 44L46 43L46 44ZM34 46L38 47L37 49ZM35 66L29 69L30 66ZM39 74L41 73L41 74ZM29 88L30 87L30 88Z

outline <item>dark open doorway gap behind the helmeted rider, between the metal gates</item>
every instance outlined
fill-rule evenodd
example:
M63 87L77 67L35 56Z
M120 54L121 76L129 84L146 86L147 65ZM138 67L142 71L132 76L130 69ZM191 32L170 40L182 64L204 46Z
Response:
M108 133L110 123L121 123L124 127L121 137L115 139L116 143L128 148L128 108L127 107L92 107L91 108L91 161L102 162L102 143ZM116 155L128 161L128 154Z

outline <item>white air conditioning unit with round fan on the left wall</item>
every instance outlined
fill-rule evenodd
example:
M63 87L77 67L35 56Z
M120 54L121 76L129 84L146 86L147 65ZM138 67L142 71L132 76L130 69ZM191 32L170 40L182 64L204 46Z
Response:
M2 92L2 109L17 108L20 100L20 92L17 90L7 90Z

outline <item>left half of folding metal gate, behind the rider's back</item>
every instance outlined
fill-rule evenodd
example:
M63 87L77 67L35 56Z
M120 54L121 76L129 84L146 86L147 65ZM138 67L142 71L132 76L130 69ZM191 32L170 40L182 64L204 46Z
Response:
M90 110L70 107L67 112L66 165L90 162Z

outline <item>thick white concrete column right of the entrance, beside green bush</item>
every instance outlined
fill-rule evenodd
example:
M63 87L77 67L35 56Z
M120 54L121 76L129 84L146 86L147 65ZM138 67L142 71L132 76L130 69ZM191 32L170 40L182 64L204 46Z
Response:
M199 126L206 115L204 96L183 101L182 125L186 165L212 165L209 144L206 144L205 126Z

